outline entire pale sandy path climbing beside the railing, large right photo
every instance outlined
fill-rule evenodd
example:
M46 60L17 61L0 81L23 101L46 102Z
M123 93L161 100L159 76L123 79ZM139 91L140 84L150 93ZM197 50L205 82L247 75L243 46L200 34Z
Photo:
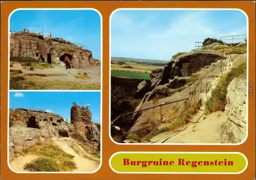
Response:
M227 58L227 63L223 67L224 73L230 71L237 61L242 61L246 55L233 55L233 59ZM225 112L215 112L208 116L204 115L205 105L211 97L212 90L215 89L222 73L216 78L210 79L206 91L201 93L202 106L200 110L190 119L188 123L180 127L176 132L161 133L153 137L150 141L154 143L222 143L221 126L227 121Z

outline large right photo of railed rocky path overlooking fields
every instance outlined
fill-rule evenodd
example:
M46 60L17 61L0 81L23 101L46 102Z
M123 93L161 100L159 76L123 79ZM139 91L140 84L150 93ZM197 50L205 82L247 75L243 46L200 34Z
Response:
M117 9L110 136L122 144L242 144L248 17L238 9Z

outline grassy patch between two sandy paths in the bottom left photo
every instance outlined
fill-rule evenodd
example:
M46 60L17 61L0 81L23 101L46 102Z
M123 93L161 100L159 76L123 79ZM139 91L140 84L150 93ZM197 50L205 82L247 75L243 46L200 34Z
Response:
M34 172L72 171L76 168L74 156L66 153L52 143L37 143L26 149L25 153L39 158L25 164L24 170Z

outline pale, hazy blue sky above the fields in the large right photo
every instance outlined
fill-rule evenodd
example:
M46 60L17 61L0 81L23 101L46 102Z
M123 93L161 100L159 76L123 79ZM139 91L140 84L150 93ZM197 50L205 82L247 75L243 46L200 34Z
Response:
M111 19L111 57L169 60L205 38L247 34L237 10L119 10Z

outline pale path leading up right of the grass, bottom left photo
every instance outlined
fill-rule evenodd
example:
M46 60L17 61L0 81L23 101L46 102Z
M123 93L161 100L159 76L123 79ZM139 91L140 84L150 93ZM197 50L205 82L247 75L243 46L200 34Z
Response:
M55 145L60 147L63 151L74 156L73 161L76 164L77 168L74 169L73 172L92 172L99 167L99 165L95 161L82 156L81 153L78 154L78 152L75 151L70 146L71 142L68 141L67 139L61 138L58 140L54 140L53 142ZM89 156L89 154L87 153L86 156Z

